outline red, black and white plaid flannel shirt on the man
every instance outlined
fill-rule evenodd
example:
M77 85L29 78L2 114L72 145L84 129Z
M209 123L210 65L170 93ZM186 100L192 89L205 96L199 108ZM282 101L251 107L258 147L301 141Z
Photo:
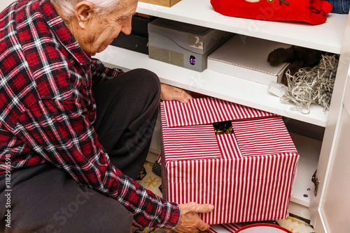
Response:
M0 174L52 163L81 186L104 193L138 227L172 228L177 204L166 202L113 167L92 127L94 82L123 70L91 59L49 0L22 0L0 14Z

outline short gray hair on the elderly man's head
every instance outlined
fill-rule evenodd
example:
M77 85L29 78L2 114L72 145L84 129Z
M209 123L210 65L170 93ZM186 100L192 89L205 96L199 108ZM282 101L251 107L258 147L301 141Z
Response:
M50 0L59 6L66 17L73 17L76 4L84 0ZM94 11L100 15L106 15L113 10L119 10L125 6L125 0L85 0L94 4Z

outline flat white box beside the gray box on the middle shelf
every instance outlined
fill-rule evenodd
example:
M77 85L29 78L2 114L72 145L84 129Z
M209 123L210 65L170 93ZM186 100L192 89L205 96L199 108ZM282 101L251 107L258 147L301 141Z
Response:
M270 52L290 45L236 35L208 57L208 69L262 84L281 83L283 70L288 63L271 66L267 62Z

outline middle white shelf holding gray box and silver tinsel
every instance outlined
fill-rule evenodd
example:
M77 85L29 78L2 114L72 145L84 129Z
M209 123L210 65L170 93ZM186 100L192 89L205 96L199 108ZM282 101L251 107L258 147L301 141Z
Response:
M290 110L294 105L282 104L278 97L267 91L267 86L238 77L204 70L202 73L174 66L169 63L149 59L148 55L115 46L107 47L95 56L106 66L118 66L125 70L146 68L156 73L160 80L169 85L195 91L207 96L228 100L248 107L258 108L297 119L316 126L325 127L328 113L323 113L320 105L312 105L310 114Z

